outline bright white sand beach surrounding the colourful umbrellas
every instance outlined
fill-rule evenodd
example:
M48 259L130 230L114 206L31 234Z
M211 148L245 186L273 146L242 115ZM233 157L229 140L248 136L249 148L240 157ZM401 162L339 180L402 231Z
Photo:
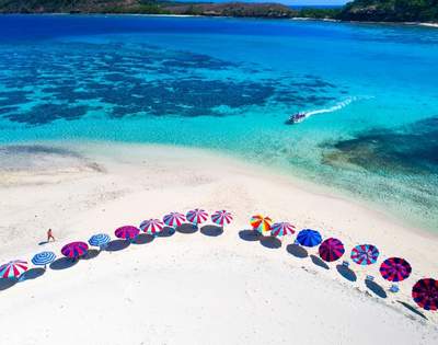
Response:
M0 262L168 211L226 208L222 234L176 232L66 262L0 286L0 344L438 344L437 312L411 289L437 278L438 237L323 188L217 153L174 147L56 143L9 148L0 171ZM72 151L70 151L72 150ZM342 239L346 254L373 243L379 264L406 258L412 276L388 291L379 264L354 274L285 239L253 241L253 214ZM48 228L57 239L45 240ZM289 245L289 246L288 246ZM306 257L300 257L306 256ZM41 272L39 272L41 274ZM371 274L376 285L368 288ZM379 288L379 286L381 288ZM380 297L379 297L380 295ZM385 296L385 298L383 298ZM408 308L406 308L408 307Z

